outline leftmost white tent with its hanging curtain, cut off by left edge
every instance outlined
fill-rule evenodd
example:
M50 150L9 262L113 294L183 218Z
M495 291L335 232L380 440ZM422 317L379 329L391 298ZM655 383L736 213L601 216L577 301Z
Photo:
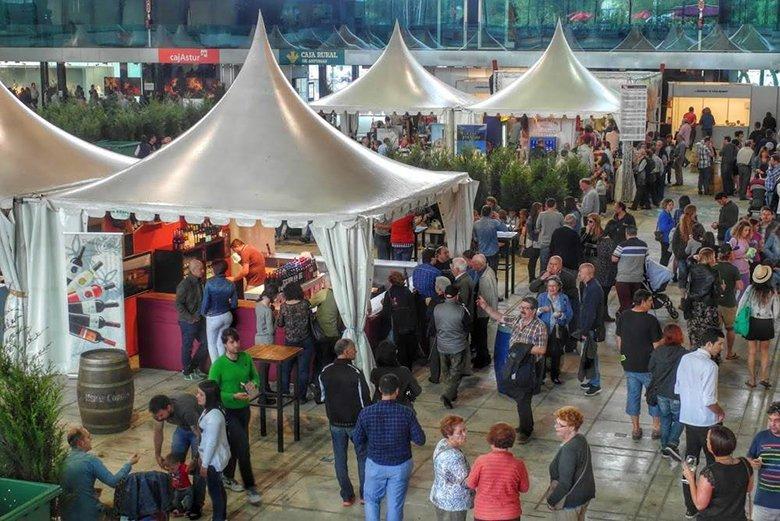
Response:
M57 241L33 242L30 234L34 233L37 217L25 216L22 206L14 205L14 199L97 179L127 168L135 159L90 145L57 128L2 85L0 157L0 271L11 290L5 319L17 325L6 328L6 333L23 335L27 325L41 334L43 342L48 322L26 320L25 308L28 293L30 303L45 304L47 297L36 291L39 286L45 289L45 284L35 274L28 277L25 259L55 248ZM28 251L25 244L35 244L35 250ZM64 293L62 298L64 301Z

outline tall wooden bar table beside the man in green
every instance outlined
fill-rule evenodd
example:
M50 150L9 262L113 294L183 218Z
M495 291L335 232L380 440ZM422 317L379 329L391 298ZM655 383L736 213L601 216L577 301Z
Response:
M300 347L280 346L276 344L260 344L252 346L246 350L246 353L252 357L252 360L260 364L276 364L276 393L269 395L265 388L260 388L260 394L250 402L253 407L260 409L260 436L266 436L265 410L276 409L276 450L284 452L284 408L290 404L293 405L293 436L295 441L301 439L301 403L298 399L298 356L301 354ZM282 392L282 364L284 362L292 363L291 374L294 378L293 394L289 395ZM286 389L285 389L286 390ZM271 396L276 398L275 404L269 404L267 398Z

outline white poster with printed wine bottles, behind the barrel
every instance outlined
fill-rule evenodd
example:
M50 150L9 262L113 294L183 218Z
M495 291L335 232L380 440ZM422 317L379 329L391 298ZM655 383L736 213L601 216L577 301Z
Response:
M71 368L97 348L125 348L121 233L66 233Z

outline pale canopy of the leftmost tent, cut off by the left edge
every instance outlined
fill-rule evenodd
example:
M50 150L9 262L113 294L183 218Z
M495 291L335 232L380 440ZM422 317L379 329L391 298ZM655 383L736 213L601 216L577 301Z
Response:
M14 197L118 172L136 160L52 125L0 86L0 207Z

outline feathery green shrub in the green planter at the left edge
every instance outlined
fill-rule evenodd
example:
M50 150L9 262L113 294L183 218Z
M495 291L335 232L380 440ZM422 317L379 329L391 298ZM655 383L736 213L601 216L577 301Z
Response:
M62 387L59 375L28 357L18 340L0 346L0 476L59 483L67 454Z

